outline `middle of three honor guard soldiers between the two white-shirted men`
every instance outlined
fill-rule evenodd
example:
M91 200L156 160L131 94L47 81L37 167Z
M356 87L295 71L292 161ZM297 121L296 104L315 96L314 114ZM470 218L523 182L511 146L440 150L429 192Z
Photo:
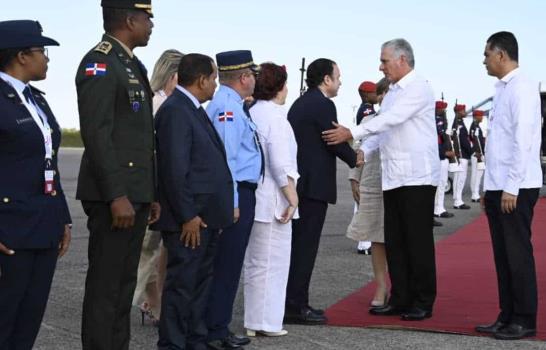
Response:
M472 145L468 138L468 129L464 124L466 116L466 106L463 104L455 104L455 119L453 120L452 134L453 142L459 145L460 171L455 173L453 177L453 208L454 209L470 209L470 206L463 202L463 189L468 174L468 161L472 155Z

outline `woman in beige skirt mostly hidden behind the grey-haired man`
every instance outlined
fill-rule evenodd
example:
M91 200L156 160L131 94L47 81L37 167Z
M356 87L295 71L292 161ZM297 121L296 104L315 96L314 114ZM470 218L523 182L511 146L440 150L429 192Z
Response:
M380 105L388 89L389 82L386 78L377 83L377 100ZM365 117L361 123L367 123L379 113ZM358 149L360 144L355 146ZM366 163L363 166L351 169L349 171L349 180L353 197L358 203L358 210L347 228L347 237L355 241L372 242L372 266L377 288L370 306L384 306L388 293L387 258L383 230L383 190L381 188L379 150L366 155Z

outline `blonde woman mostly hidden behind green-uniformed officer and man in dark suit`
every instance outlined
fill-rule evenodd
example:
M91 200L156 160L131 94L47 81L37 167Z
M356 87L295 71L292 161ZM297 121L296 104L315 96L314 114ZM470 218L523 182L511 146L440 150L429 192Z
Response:
M154 92L154 115L176 87L178 65L182 56L183 54L177 50L167 50L161 54L154 66L150 81ZM142 324L144 324L145 316L154 325L159 322L166 266L167 251L161 244L161 233L147 231L142 243L137 285L133 296L133 305L138 306L142 313Z

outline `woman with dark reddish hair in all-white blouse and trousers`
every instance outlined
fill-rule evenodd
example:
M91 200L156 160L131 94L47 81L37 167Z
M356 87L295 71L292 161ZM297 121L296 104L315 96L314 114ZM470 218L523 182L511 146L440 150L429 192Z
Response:
M292 217L297 218L297 145L283 105L288 93L284 67L261 65L250 114L265 157L256 190L256 215L244 263L244 306L248 336L282 336L290 267Z

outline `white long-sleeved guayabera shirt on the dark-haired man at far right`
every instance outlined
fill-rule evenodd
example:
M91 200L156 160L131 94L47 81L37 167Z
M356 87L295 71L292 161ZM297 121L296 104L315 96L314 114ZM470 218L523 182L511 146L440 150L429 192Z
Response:
M538 82L516 68L495 89L485 141L484 190L517 196L522 188L542 187Z

